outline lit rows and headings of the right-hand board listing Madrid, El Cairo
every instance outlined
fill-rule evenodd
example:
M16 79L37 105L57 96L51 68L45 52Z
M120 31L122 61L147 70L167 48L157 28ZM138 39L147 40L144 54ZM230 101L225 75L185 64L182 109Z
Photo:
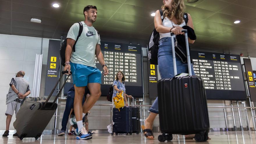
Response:
M205 89L244 91L239 55L192 51L193 70Z

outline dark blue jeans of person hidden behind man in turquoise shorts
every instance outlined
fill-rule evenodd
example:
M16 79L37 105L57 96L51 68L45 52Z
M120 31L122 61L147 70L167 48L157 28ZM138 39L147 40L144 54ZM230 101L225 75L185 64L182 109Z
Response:
M66 129L67 129L68 117L69 117L71 109L74 108L74 97L75 97L75 91L74 90L68 91L66 107L65 107L65 111L63 113L62 122L61 122L61 126L62 126L61 130L63 130L63 131L66 131ZM83 105L84 101L85 101L85 99L83 97L82 105Z

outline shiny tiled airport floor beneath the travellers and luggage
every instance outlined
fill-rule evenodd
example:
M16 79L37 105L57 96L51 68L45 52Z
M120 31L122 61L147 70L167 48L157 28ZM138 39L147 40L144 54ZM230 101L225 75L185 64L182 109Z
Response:
M155 140L145 139L143 134L133 134L133 135L113 135L110 134L94 134L93 139L91 140L76 140L75 136L56 136L51 134L42 135L38 140L35 138L24 138L22 141L17 137L13 137L12 135L8 137L0 136L0 143L6 144L18 144L18 143L26 143L26 144L73 144L73 143L95 143L95 144L132 144L132 143L160 143L157 140L157 136L159 133L154 133ZM211 140L207 142L202 142L200 144L255 144L256 143L256 131L229 131L229 132L210 132L209 137ZM163 143L163 142L162 142ZM196 144L195 140L184 140L182 135L174 135L172 142L168 142L169 144ZM199 144L199 143L197 143Z

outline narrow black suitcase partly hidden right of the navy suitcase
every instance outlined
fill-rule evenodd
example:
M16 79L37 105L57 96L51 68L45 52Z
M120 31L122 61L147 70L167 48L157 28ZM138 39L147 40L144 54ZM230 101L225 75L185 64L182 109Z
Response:
M137 106L131 107L131 121L132 121L132 133L139 134L140 132L140 109Z

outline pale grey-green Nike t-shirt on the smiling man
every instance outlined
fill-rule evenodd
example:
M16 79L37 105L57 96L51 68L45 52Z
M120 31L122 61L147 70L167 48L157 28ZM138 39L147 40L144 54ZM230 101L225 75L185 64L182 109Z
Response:
M100 37L93 26L87 26L84 22L81 23L83 24L83 31L77 40L76 51L72 52L70 61L72 63L96 67L95 48L97 44L100 45ZM68 31L67 38L76 40L78 32L79 23L75 23Z

